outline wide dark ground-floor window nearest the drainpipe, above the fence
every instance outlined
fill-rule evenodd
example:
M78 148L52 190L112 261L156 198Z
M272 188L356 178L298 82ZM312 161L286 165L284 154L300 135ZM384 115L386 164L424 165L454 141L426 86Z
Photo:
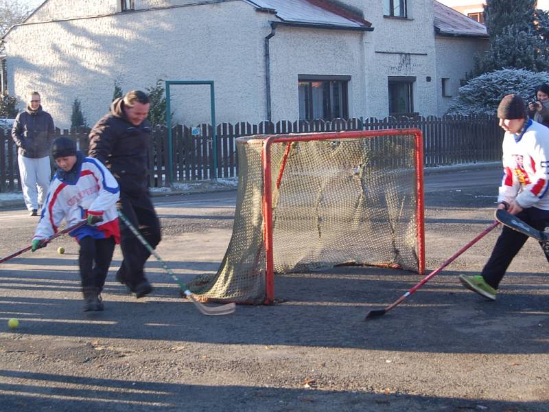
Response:
M299 76L299 119L347 119L349 79L348 76Z

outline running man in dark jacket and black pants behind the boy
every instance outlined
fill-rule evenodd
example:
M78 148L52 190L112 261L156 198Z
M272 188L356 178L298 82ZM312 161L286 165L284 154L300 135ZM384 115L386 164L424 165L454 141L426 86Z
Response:
M155 248L161 229L148 191L149 108L149 97L143 91L130 91L114 100L110 113L89 134L88 155L99 159L115 176L120 185L119 208ZM152 292L143 271L150 253L124 222L119 223L124 260L116 277L137 297L143 297Z

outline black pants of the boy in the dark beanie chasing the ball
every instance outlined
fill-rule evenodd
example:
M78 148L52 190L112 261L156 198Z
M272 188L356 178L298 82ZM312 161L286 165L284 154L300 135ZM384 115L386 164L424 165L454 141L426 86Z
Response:
M108 239L94 239L91 236L85 236L79 243L78 265L82 288L95 286L101 291L107 277L108 266L113 260L115 238L111 236Z

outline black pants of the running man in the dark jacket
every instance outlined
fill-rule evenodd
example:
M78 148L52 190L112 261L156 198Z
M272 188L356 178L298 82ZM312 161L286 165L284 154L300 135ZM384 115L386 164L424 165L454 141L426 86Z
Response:
M152 249L156 248L161 240L160 220L149 196L133 197L121 193L119 208L141 232ZM122 220L119 220L119 225L120 247L124 257L119 268L119 276L130 288L134 288L146 279L143 267L150 253Z

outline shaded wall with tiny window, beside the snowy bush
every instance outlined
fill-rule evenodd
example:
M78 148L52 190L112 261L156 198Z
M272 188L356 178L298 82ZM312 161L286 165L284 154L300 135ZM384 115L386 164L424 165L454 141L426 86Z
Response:
M488 39L478 38L436 37L436 115L444 115L452 98L458 95L460 80L465 79L467 71L474 67L475 54L483 52L488 47ZM469 68L467 70L467 68ZM442 79L449 78L449 94L443 97Z

